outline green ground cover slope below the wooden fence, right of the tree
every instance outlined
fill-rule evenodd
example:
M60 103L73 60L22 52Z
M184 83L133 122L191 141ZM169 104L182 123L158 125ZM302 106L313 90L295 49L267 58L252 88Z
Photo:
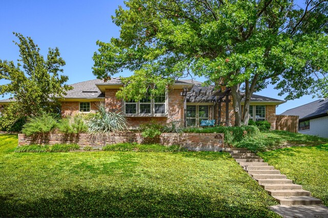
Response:
M328 143L328 139L281 130L258 132L241 141L233 142L234 147L246 147L254 152L267 151L288 146L312 146Z

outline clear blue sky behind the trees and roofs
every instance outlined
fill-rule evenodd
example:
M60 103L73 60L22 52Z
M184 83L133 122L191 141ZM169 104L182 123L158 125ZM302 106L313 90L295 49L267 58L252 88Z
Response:
M16 40L12 32L18 32L32 37L44 56L49 47L59 48L61 57L66 61L64 74L69 76L68 84L94 79L91 68L92 56L97 50L96 41L108 42L111 37L119 36L119 29L111 20L119 5L124 5L123 1L2 1L0 59L18 58L18 47L12 42ZM120 75L129 76L130 73ZM0 84L5 82L2 80ZM278 96L278 93L269 86L256 94L283 100L284 96ZM277 114L315 100L311 96L303 96L288 101L277 107Z

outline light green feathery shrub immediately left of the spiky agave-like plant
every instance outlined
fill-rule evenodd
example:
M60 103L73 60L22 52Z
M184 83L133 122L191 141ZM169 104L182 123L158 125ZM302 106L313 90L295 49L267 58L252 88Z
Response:
M59 120L58 130L65 134L87 133L88 126L85 117L77 114L73 117L66 117Z

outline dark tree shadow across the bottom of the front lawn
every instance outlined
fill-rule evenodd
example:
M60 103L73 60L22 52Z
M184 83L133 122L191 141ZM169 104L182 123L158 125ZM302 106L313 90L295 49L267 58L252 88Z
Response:
M232 197L230 197L232 198ZM258 200L260 201L260 200ZM0 195L0 216L185 216L185 217L272 217L264 202L229 197L213 198L203 193L165 193L150 188L87 190L65 189L57 198L22 200Z

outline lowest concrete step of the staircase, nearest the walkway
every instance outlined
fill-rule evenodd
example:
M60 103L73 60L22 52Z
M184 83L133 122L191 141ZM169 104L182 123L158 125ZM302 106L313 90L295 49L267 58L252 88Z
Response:
M322 201L311 196L275 196L274 197L281 205L317 205L322 204Z

